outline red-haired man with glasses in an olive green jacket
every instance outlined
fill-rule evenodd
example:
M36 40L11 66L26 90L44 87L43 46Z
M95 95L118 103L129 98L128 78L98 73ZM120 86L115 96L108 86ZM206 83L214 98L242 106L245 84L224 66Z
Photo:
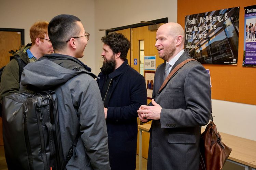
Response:
M22 65L34 62L45 54L53 53L53 46L49 40L47 32L48 22L35 22L29 31L32 44L27 44L20 48L14 56L20 59ZM0 101L2 98L12 93L19 91L20 75L23 71L23 66L19 67L18 60L11 60L8 63L1 76L0 84ZM21 70L21 71L20 71Z

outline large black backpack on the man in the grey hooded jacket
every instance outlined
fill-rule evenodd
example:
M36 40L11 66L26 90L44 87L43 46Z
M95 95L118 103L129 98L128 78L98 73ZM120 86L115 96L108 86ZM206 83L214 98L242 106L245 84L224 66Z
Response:
M3 141L9 170L62 170L64 159L54 91L16 92L3 98Z

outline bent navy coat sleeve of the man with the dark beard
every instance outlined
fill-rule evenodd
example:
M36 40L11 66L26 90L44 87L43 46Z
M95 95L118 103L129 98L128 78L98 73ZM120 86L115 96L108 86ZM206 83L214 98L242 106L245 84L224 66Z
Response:
M125 122L138 117L139 107L147 104L147 90L143 76L137 76L137 79L133 81L130 100L131 104L128 106L108 107L107 120Z

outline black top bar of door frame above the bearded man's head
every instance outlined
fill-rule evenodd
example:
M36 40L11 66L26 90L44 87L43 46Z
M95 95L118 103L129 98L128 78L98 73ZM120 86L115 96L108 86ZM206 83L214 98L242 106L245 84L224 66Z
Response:
M166 17L166 18L151 20L151 21L147 21L147 22L153 22L154 24L160 24L160 23L163 23L163 22L167 23L168 18ZM154 24L138 23L138 24L132 24L132 25L123 26L123 27L110 28L110 29L106 30L106 35L108 35L109 32L112 32L112 31L124 30L124 29L127 29L127 28L137 28L137 27L143 27L143 26L150 26L150 25L154 25Z

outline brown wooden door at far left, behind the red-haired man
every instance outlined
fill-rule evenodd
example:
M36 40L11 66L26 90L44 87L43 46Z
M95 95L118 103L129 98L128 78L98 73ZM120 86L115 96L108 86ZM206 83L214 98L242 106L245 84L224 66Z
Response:
M10 56L12 56L9 51L19 50L20 45L20 32L0 31L0 68L9 63ZM3 145L2 118L0 118L0 145Z

